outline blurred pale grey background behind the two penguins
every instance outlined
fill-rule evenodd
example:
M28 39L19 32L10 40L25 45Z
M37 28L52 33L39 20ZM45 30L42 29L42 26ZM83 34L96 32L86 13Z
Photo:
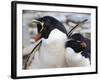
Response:
M22 45L23 48L34 43L33 35L37 32L36 24L32 20L43 16L52 16L58 19L65 26L67 32L70 31L79 22L88 19L84 24L77 27L74 33L81 33L83 36L90 38L91 36L91 14L89 13L71 13L71 12L47 12L23 10L22 14Z

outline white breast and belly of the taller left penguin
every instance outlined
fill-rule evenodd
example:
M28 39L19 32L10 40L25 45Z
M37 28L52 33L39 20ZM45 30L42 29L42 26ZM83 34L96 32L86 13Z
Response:
M40 50L35 54L28 69L66 67L65 43L66 35L54 29L47 39L42 38Z

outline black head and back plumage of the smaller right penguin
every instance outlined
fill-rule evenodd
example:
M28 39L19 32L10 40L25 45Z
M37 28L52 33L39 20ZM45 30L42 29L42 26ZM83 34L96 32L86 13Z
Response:
M86 47L80 47L81 42L85 42ZM66 42L66 48L71 47L76 53L81 52L82 56L91 60L91 41L83 37L80 33L73 34Z

